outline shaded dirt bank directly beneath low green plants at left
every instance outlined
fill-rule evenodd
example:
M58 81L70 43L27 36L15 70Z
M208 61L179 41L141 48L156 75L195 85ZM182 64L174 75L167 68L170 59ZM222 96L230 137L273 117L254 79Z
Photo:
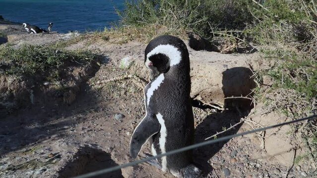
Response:
M48 75L0 76L0 115L16 109L72 103L80 87L99 69L96 61L86 65L69 63L60 69L61 81L47 82Z

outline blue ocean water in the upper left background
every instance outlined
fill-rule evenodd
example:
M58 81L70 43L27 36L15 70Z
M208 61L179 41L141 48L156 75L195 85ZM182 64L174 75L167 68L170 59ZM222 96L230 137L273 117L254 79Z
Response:
M96 31L120 20L115 11L125 0L0 0L0 15L19 23L29 23L52 31Z

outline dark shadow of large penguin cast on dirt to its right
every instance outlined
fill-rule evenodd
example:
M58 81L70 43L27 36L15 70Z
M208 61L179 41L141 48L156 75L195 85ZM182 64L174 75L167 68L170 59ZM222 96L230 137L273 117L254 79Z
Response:
M252 75L252 71L245 67L235 67L224 71L222 90L225 97L247 96L250 94L251 89L254 89L255 87L254 80L251 78ZM252 95L249 95L249 97L250 96ZM204 120L197 125L195 128L196 143L203 142L205 141L205 138L214 135L217 132L222 132L225 128L228 129L232 125L237 124L240 122L241 118L248 116L253 108L252 100L244 98L225 99L224 106L226 110L206 116ZM236 134L241 125L242 124L239 124L231 130L218 134L217 138ZM203 177L207 177L212 171L210 159L219 152L228 141L229 140L216 142L214 144L196 148L193 151L195 158L194 162L202 170ZM214 161L223 164L225 160L219 157L218 159L214 159Z

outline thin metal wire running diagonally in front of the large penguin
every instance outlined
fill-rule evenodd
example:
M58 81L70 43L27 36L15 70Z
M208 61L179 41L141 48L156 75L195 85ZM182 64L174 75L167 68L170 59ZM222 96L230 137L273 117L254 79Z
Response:
M289 122L284 122L284 123L276 124L276 125L273 125L273 126L268 126L268 127L264 127L264 128L254 129L252 131L247 131L247 132L243 132L243 133L239 133L239 134L223 136L223 137L220 137L220 138L217 138L217 139L212 139L212 140L204 141L204 142L201 142L201 143L196 143L196 144L193 144L193 145L190 145L190 146L186 146L186 147L183 147L183 148L180 148L180 149L172 150L172 151L169 151L169 152L166 152L166 153L163 153L163 154L159 154L159 155L156 155L156 156L153 156L153 157L144 158L144 159L136 160L136 161L133 161L133 162L125 163L125 164L122 164L122 165L119 165L119 166L115 166L115 167L103 169L103 170L100 170L100 171L87 173L87 174L80 175L80 176L77 176L77 177L74 177L74 178L90 178L90 177L94 177L94 176L110 173L110 172L113 172L113 171L120 170L122 168L126 168L126 167L129 167L129 166L134 166L134 165L137 165L137 164L140 164L140 163L144 163L144 162L147 162L149 160L160 158L160 157L163 157L163 156L168 156L168 155L180 153L180 152L183 152L183 151L188 151L188 150L191 150L191 149L194 149L194 148L198 148L198 147L201 147L201 146L206 146L206 145L217 143L217 142L220 142L220 141L225 141L225 140L228 140L228 139L231 139L231 138L234 138L234 137L238 137L238 136L242 136L242 135L246 135L246 134L252 134L252 133L255 133L255 132L261 132L261 131L265 131L265 130L268 130L268 129L273 129L273 128L276 128L276 127L285 126L285 125L288 125L288 124L293 124L293 123L305 121L305 120L308 120L308 119L313 119L313 118L316 119L316 117L317 117L317 115L313 115L313 116L310 116L310 117L297 119L297 120L293 120L293 121L289 121Z

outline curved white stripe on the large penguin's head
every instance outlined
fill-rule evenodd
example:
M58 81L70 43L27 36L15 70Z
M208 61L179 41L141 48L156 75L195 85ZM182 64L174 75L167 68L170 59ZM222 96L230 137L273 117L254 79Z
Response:
M146 67L149 68L149 64L151 64L149 57L159 53L164 54L169 58L169 63L167 65L169 65L170 67L177 65L181 62L181 52L178 50L177 47L173 45L158 45L149 53L147 53L145 61Z

